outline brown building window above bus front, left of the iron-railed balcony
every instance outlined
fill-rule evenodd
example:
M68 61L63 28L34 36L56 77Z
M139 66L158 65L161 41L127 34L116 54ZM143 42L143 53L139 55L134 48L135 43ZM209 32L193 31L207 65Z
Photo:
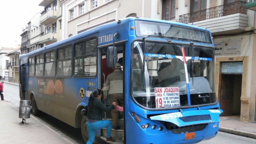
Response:
M163 0L162 19L174 20L175 14L175 0Z

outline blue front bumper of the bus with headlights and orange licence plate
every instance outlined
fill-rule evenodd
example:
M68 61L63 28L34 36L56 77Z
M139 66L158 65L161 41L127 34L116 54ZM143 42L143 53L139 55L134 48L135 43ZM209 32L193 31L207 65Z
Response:
M139 123L136 122L134 116L128 116L128 119L131 118L131 120L128 120L130 121L129 128L126 127L126 143L192 144L202 140L208 140L217 135L219 129L219 114L222 112L222 110L176 112L152 116L150 117L151 120L137 115L140 119ZM175 124L177 128L168 129L166 123ZM142 128L142 125L145 126L146 124L148 127ZM154 128L152 127L153 125ZM203 126L203 128L200 130L196 129L195 127L198 125L199 127ZM160 130L159 127L161 127ZM179 128L184 128L185 131L178 130ZM175 131L176 129L177 131Z

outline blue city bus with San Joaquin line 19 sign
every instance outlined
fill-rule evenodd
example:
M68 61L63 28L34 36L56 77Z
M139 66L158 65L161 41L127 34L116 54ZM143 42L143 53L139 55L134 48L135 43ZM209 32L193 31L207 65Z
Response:
M81 110L117 62L124 76L124 117L121 130L112 130L115 143L197 143L217 135L223 111L211 33L178 22L125 18L23 54L20 98L31 100L34 115L42 111L81 128L86 142ZM111 117L103 113L102 119ZM106 140L106 130L96 137L95 143Z

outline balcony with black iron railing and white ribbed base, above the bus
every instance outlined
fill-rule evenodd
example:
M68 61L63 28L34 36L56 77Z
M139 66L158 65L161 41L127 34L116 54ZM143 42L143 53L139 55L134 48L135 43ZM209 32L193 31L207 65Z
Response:
M179 16L179 22L207 28L213 36L237 34L248 27L246 2L237 1Z

